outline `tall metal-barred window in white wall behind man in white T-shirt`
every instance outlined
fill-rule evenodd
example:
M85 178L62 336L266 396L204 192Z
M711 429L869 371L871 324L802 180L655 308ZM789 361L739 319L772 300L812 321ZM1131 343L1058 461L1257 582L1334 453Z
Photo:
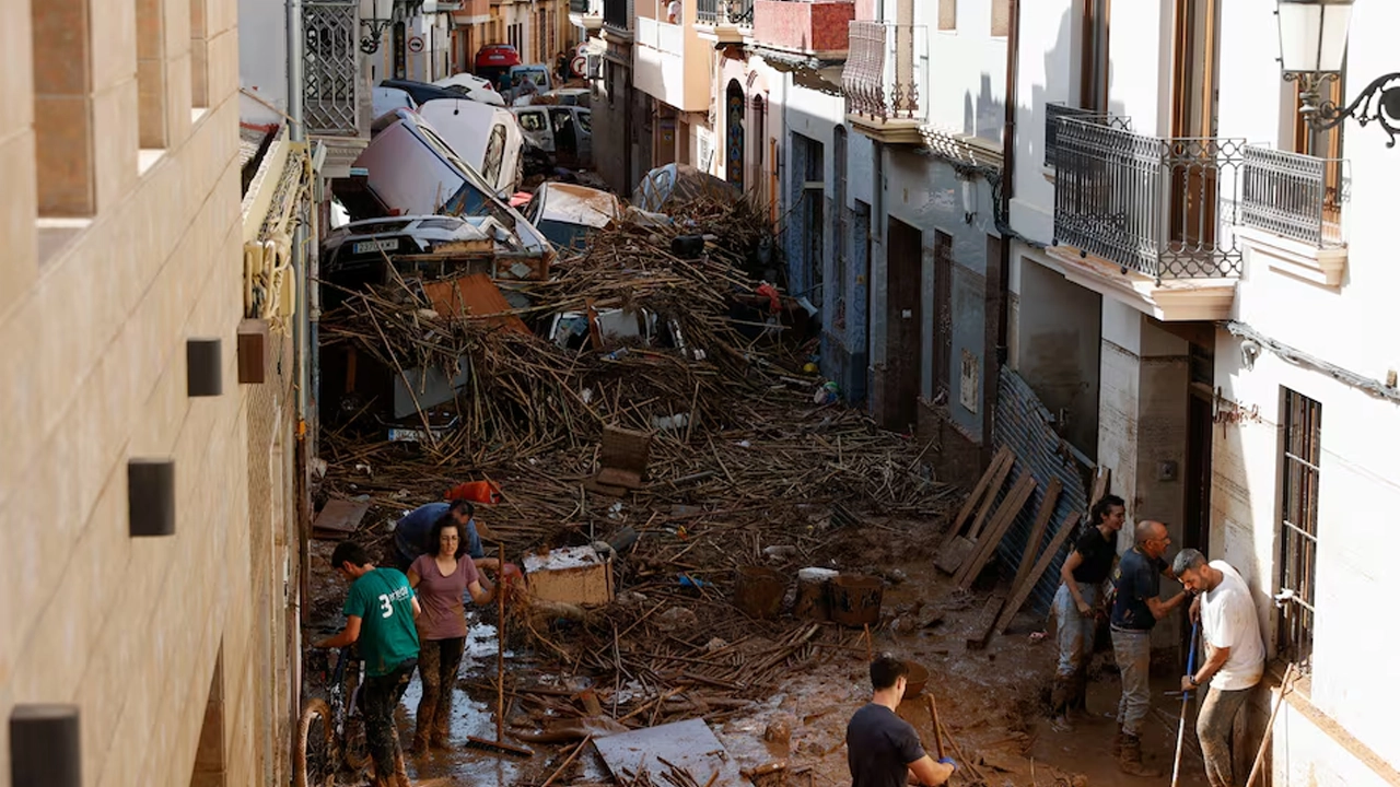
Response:
M1278 653L1305 664L1312 657L1317 584L1317 483L1322 465L1322 403L1284 388L1280 447Z

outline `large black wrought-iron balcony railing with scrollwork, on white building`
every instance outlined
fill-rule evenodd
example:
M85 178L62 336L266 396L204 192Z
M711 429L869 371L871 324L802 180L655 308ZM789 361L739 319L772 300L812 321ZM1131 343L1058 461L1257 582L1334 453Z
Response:
M1158 139L1056 120L1054 242L1162 279L1239 276L1243 140Z

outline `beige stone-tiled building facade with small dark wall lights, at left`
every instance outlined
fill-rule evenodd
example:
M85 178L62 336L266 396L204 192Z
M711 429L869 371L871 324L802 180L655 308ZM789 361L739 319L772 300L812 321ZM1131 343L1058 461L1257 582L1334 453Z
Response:
M50 745L88 784L286 783L298 358L244 252L286 228L294 150L241 146L235 3L4 29L0 784Z

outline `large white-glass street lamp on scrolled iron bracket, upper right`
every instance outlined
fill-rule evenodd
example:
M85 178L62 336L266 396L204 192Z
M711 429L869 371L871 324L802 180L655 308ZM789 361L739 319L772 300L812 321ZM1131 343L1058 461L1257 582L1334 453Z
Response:
M1322 99L1322 87L1341 74L1347 53L1354 0L1278 0L1278 48L1284 78L1298 83L1299 112L1315 130L1338 126L1355 118L1365 126L1375 120L1390 134L1386 147L1400 136L1400 71L1385 74L1361 91L1344 109Z

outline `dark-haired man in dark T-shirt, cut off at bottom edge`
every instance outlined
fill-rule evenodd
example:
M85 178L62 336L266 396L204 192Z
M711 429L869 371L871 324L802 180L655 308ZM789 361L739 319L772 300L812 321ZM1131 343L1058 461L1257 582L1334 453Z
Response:
M875 693L846 727L851 787L904 787L910 783L910 772L917 784L937 787L952 776L953 760L934 762L924 753L914 727L895 713L904 699L907 682L909 665L893 655L885 653L871 662Z

